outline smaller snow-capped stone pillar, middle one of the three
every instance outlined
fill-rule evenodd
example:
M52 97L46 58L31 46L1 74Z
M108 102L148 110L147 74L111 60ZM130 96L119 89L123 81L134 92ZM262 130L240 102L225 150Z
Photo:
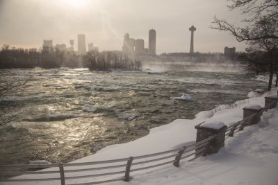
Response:
M261 121L261 114L259 114L259 112L261 112L262 109L260 105L250 105L243 108L243 119L253 115L247 125L253 125Z

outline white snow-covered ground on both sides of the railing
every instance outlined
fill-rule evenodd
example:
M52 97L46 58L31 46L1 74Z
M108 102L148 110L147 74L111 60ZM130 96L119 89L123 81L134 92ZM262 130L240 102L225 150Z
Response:
M195 125L204 121L221 121L226 125L236 123L243 119L243 107L249 105L264 107L264 96L268 94L241 100L233 105L221 105L211 111L200 112L193 120L178 119L167 125L155 127L150 130L149 135L136 141L108 146L99 150L95 155L84 157L73 163L147 155L193 143L196 139ZM273 89L270 94L276 95L277 89ZM181 161L179 168L169 164L138 171L131 173L133 179L130 182L120 181L109 184L277 185L277 174L278 106L264 112L261 121L256 125L245 127L245 130L236 133L234 137L229 137L225 141L225 147L217 154L200 157L190 162ZM83 175L83 173L74 173L74 175ZM34 175L28 177L34 177ZM35 177L51 176L38 175ZM74 180L74 182L77 181ZM90 179L79 179L78 182L90 182ZM59 182L40 182L40 184L57 183ZM32 183L26 182L25 184ZM33 184L38 183L33 182Z

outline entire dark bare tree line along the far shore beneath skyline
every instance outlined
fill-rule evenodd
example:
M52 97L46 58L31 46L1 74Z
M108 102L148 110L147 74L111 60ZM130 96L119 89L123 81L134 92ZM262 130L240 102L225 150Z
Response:
M38 51L37 49L10 49L10 46L4 45L1 49L0 69L33 67L45 69L88 67L95 71L139 70L141 63L115 51L89 51L85 55L76 55L73 51L60 51L49 47Z

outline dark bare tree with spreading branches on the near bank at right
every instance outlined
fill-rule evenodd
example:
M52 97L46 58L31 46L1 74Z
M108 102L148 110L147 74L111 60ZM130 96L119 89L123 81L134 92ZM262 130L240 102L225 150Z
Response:
M238 42L246 42L250 69L256 73L269 73L268 90L278 71L278 1L277 0L229 0L230 10L239 9L248 19L245 26L236 26L225 19L214 17L213 29L227 31ZM277 82L276 82L277 86Z

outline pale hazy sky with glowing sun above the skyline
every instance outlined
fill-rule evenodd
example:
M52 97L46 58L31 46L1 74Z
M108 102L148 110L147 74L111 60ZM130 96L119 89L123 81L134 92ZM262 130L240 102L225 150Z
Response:
M229 11L226 0L0 0L0 46L39 48L43 39L70 45L85 34L100 51L122 50L125 33L145 40L156 30L156 53L189 52L194 25L195 51L223 52L224 46L244 51L229 33L209 28L216 15L240 24L240 12Z

